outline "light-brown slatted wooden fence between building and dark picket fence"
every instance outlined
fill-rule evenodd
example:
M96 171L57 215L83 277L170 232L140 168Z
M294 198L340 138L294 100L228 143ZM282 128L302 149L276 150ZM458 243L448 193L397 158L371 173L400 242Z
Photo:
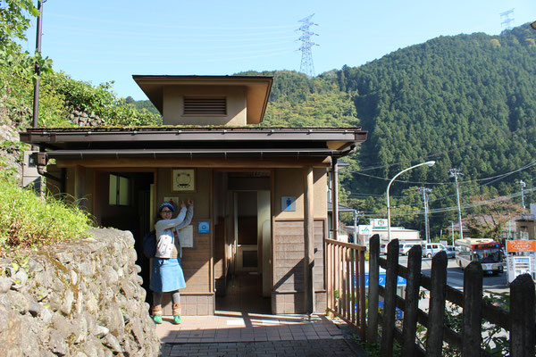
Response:
M328 311L365 338L364 245L326 239Z

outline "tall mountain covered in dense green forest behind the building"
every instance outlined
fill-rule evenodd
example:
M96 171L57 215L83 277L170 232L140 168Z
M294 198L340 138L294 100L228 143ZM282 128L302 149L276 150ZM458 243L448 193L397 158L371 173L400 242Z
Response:
M391 204L398 207L393 224L422 227L423 216L416 214L423 207L418 187L426 186L432 188L431 224L445 228L456 217L451 168L464 174L464 204L518 192L519 179L532 188L536 31L528 25L499 36L437 37L313 79L289 71L239 74L274 75L266 125L368 130L368 140L342 174L347 203L366 213L364 221L374 212L385 216L389 178L429 160L437 163L404 174L402 181L410 182L392 186ZM516 172L495 178L510 171ZM513 200L519 203L519 197ZM465 214L485 211L485 205L476 204Z

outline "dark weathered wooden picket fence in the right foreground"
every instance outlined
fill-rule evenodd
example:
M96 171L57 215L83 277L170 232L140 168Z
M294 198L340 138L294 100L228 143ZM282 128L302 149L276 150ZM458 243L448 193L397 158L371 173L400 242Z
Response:
M366 338L370 343L377 342L381 323L381 356L392 355L395 338L402 345L403 356L440 356L443 342L464 357L488 355L481 349L482 319L509 331L510 356L534 356L535 293L534 282L529 274L515 278L510 285L510 311L505 311L482 299L483 272L480 263L472 262L465 268L464 291L461 292L447 285L447 255L444 252L433 257L430 277L421 273L421 246L414 246L408 255L406 268L398 265L397 239L389 243L387 259L380 258L378 235L370 240ZM380 266L386 270L385 287L379 284ZM398 276L406 278L405 299L396 292ZM418 307L421 286L430 291L428 313ZM381 312L375 312L379 311L379 295L383 296L384 308ZM463 309L461 334L444 326L446 301ZM396 307L404 311L402 330L395 323ZM417 322L426 327L424 349L416 343Z

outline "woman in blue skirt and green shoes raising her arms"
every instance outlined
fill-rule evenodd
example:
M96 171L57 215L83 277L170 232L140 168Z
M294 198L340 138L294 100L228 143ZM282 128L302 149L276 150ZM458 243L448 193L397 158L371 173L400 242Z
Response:
M153 259L153 274L150 288L153 291L153 320L162 323L163 293L172 294L173 323L180 324L180 293L186 287L184 274L180 267L182 247L178 231L188 226L194 216L194 202L188 198L188 210L184 202L180 203L177 218L172 219L175 211L172 203L164 202L158 208L155 223L156 253Z

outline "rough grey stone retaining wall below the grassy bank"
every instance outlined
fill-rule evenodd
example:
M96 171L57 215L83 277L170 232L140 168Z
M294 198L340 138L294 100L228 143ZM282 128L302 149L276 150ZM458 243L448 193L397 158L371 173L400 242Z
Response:
M132 235L91 233L0 260L1 356L158 355Z

